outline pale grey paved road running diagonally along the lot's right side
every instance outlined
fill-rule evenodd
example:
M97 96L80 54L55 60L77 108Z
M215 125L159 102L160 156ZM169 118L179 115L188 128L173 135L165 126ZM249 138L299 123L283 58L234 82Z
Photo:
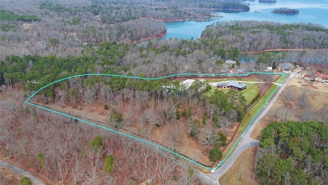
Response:
M273 106L273 104L277 101L279 95L282 93L283 89L286 87L286 85L297 75L297 73L302 68L297 69L295 72L291 73L289 77L286 77L284 82L280 84L280 87L278 87L276 93L271 97L270 101L265 105L261 112L257 115L257 117L253 120L252 124L249 126L248 130L245 131L245 133L241 136L241 139L239 140L236 150L234 153L221 165L220 168L218 168L213 174L207 174L208 177L204 177L204 175L197 174L196 176L199 177L201 180L203 180L205 183L210 182L208 178L211 179L212 182L209 184L219 184L218 179L223 176L232 166L232 164L235 162L235 160L238 158L238 156L249 147L258 146L259 141L255 141L251 138L251 134L255 130L258 123L263 119L265 115L269 112L270 108ZM254 83L254 82L253 82Z

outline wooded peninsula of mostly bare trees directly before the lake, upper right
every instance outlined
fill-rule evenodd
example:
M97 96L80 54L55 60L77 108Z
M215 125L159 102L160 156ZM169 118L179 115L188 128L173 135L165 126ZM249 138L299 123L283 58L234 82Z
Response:
M235 46L240 51L328 47L328 29L311 24L216 22L202 31L201 38L215 42L220 47Z

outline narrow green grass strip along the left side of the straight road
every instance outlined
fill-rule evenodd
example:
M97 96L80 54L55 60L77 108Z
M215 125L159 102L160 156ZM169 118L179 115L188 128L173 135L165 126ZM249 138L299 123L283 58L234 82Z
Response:
M257 103L245 114L244 118L242 119L239 131L243 132L246 126L252 121L258 110L262 107L265 101L269 98L273 90L277 87L275 84L271 84L267 92L257 101Z

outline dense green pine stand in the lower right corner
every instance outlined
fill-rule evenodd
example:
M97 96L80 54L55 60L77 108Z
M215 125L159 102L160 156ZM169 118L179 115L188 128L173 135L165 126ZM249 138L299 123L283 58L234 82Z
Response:
M328 127L271 122L261 132L255 172L265 184L328 184Z

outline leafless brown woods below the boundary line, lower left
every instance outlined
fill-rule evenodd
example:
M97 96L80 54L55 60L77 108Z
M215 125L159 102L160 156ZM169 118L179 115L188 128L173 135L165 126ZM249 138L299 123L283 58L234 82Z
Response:
M24 102L24 93L9 92L9 101L2 102L8 109L0 110L2 115L11 115L0 123L1 155L44 176L47 184L137 184L148 179L156 184L200 182L191 164L184 170L175 156L152 145L17 105L14 100Z

